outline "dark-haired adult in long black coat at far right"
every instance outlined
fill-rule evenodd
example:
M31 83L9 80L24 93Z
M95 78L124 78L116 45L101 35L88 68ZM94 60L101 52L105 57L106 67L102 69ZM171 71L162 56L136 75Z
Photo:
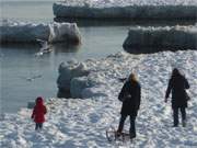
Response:
M181 110L182 113L182 124L183 126L186 126L185 109L187 107L187 101L189 100L186 89L189 89L187 79L179 73L177 68L174 68L165 94L165 102L167 102L167 98L172 91L174 127L178 126L178 110Z

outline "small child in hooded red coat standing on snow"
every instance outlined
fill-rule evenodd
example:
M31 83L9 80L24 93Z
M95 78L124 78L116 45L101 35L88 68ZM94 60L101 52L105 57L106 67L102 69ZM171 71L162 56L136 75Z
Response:
M35 130L42 129L43 123L45 122L45 114L47 113L46 106L43 103L43 98L38 96L36 99L36 104L34 106L32 118L36 123Z

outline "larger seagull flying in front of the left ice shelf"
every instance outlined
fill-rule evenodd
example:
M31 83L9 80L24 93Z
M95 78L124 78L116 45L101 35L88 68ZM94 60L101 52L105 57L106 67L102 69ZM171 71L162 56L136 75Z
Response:
M43 41L38 38L36 41L42 45L42 47L39 48L39 52L35 54L36 56L43 56L44 54L51 52L50 46L47 41Z

